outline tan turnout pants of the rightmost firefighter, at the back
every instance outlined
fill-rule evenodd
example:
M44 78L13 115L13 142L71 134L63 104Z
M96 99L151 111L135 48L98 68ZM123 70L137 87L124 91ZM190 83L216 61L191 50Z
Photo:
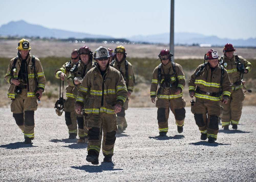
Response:
M231 95L228 99L228 103L221 106L224 108L223 115L221 117L222 126L231 124L238 124L242 115L242 108L245 95L242 88L237 89L236 91L231 91Z

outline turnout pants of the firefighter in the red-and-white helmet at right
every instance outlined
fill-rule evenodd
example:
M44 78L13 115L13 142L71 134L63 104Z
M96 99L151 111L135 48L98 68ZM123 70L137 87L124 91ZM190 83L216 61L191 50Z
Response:
M191 112L194 114L200 132L217 140L219 116L223 112L220 101L196 98L196 102L191 106Z

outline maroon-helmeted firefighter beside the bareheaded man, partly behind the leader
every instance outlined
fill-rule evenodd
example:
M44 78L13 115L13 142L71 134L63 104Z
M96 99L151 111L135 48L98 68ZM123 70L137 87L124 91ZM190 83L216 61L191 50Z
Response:
M77 99L77 91L81 85L82 79L86 75L86 73L94 66L94 63L92 62L92 51L90 47L83 46L78 50L79 59L81 61L74 64L74 66L71 68L70 73L68 75L67 81L68 85L73 87L73 95L74 99ZM76 109L75 105L72 105L73 110ZM75 112L77 124L78 124L78 137L77 143L84 143L87 142L88 138L88 130L84 126L84 116L81 114L77 114Z

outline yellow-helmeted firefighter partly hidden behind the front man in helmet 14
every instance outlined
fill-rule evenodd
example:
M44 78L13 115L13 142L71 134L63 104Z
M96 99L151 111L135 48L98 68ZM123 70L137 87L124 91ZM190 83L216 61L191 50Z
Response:
M110 63L110 66L113 66L115 69L121 72L128 90L128 97L130 97L134 87L134 72L133 72L132 64L126 60L127 53L124 46L121 46L121 45L117 46L115 48L114 53L115 53L115 56L114 56L115 59ZM129 102L128 97L122 107L122 110L117 113L117 122L118 122L118 131L116 132L117 134L123 133L123 131L127 127L127 122L125 119L125 110L128 109L128 102Z

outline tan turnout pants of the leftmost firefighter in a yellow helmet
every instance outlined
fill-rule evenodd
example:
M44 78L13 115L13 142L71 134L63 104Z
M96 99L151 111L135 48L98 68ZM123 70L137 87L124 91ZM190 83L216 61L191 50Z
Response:
M11 112L24 137L34 139L34 112L37 110L37 98L27 97L27 89L22 89L11 103Z

